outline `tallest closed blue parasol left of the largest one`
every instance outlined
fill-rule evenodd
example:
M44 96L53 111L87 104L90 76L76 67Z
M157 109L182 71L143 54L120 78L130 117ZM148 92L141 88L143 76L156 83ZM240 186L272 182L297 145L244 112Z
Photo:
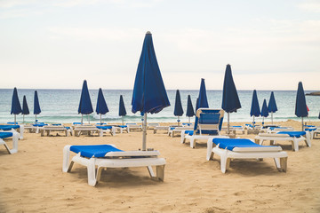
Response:
M78 114L81 114L81 124L84 123L83 122L84 114L92 114L92 112L93 112L93 108L92 108L92 102L91 102L90 94L88 90L88 85L86 80L84 80L83 88L81 91L79 108L78 108ZM89 120L89 123L90 123L90 120Z

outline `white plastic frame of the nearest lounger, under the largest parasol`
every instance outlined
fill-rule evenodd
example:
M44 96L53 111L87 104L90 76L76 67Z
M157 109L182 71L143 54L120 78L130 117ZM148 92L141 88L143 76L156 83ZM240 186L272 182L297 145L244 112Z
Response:
M76 154L69 162L70 145L63 148L63 172L69 172L74 162L87 167L88 184L96 185L100 181L101 171L107 168L126 168L126 167L147 167L149 175L152 179L164 181L165 159L157 158L157 151L126 151L126 152L109 152L105 157L110 158L84 158L80 154ZM140 156L140 158L139 158ZM130 158L134 157L134 158ZM97 171L96 171L96 166ZM152 166L156 166L156 175L152 170Z

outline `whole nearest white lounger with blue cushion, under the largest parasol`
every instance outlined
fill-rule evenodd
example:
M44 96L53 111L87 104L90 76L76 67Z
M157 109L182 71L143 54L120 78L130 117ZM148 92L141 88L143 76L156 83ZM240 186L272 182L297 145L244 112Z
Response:
M70 152L76 153L71 162ZM100 181L101 170L107 168L147 167L150 177L164 181L165 160L158 155L158 151L123 151L112 145L68 145L63 149L62 170L69 172L74 162L84 165L87 167L88 184L92 186ZM152 166L156 166L156 176Z

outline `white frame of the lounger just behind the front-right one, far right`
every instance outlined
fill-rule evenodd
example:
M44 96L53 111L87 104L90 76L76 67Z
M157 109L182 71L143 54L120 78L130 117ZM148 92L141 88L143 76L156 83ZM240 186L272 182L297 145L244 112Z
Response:
M299 151L299 142L304 141L307 146L311 147L310 133L306 132L306 138L301 136L300 138L290 137L287 134L276 134L276 133L260 133L254 138L259 140L259 144L262 145L265 140L270 140L270 145L274 145L275 141L291 141L292 150L295 152Z

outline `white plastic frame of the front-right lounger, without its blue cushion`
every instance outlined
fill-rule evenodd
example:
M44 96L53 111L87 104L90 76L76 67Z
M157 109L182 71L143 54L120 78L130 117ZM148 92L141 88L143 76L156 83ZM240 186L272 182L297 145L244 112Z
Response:
M253 141L252 141L253 142ZM276 163L276 169L278 171L287 170L288 154L282 151L280 146L273 147L235 147L233 151L228 149L221 149L219 146L213 147L212 138L208 139L207 156L206 160L213 159L213 154L220 156L220 169L222 173L230 167L231 159L263 159L273 158Z

